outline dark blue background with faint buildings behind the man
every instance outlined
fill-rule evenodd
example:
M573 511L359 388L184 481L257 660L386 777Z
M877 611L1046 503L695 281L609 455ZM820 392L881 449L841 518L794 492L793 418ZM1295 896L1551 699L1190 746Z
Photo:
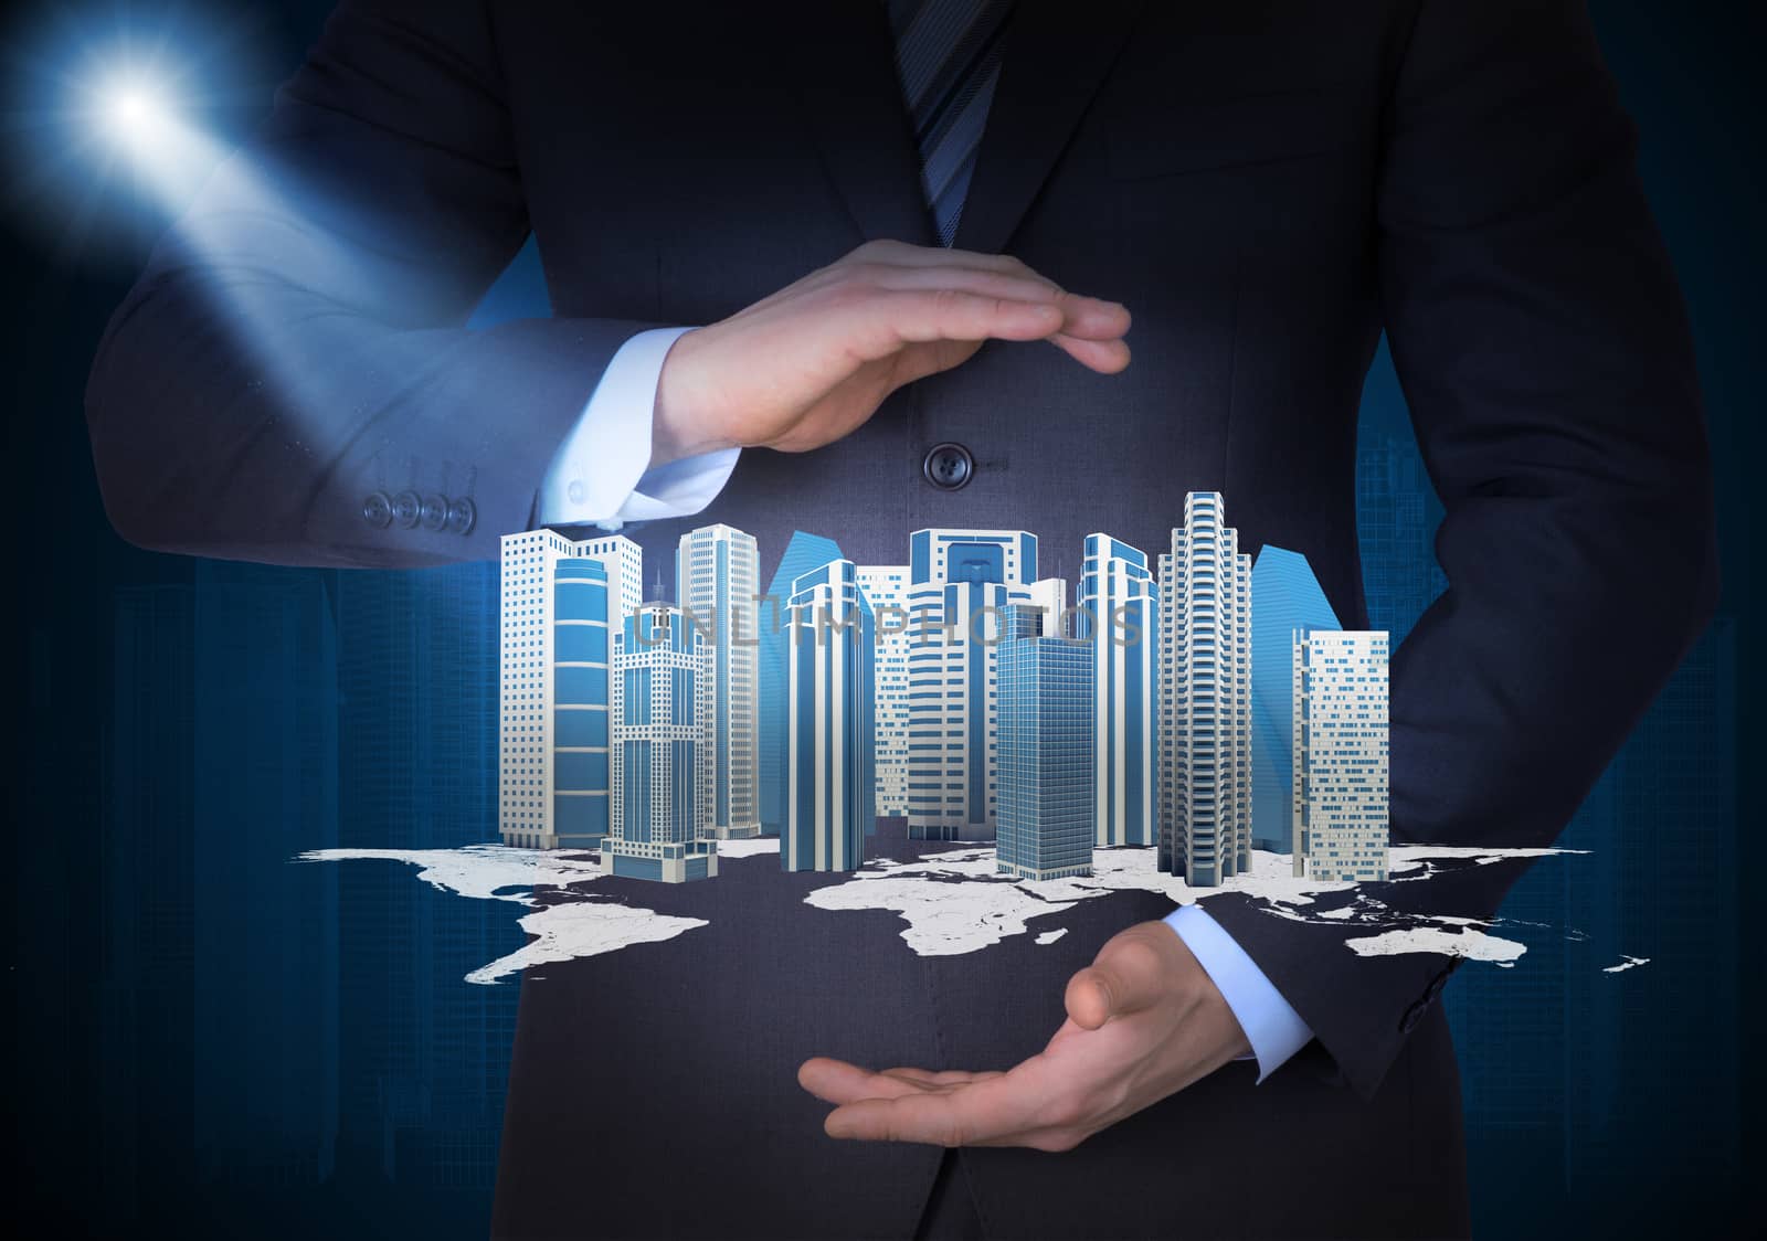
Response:
M95 217L46 225L65 189L48 182L83 173L18 175L55 147L30 97L46 81L35 58L78 23L182 23L221 48L228 90L203 122L237 138L325 9L258 4L217 27L187 5L42 7L5 30L14 1209L51 1213L62 1234L481 1236L489 1218L516 986L461 976L519 946L519 910L391 863L288 859L493 838L495 566L286 571L122 544L81 387L154 217L111 186ZM1449 988L1475 1223L1486 1237L1742 1236L1762 1211L1740 1172L1763 1154L1744 1119L1762 1085L1762 971L1742 948L1762 926L1744 870L1760 859L1737 776L1758 737L1739 705L1758 670L1762 23L1721 4L1592 9L1693 309L1725 601L1567 829L1592 854L1536 866L1505 907L1587 939L1527 935L1516 969L1472 965ZM484 320L544 308L530 258ZM1385 354L1359 499L1371 620L1398 636L1442 583L1438 509ZM1622 951L1652 963L1603 974ZM1283 1170L1269 1176L1278 1190ZM585 1167L585 1211L592 1181Z

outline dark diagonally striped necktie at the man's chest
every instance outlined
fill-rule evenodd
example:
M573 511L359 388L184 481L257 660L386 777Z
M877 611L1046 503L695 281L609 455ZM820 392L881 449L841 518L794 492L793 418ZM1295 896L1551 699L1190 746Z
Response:
M896 76L921 148L921 191L938 240L949 246L1000 81L1000 32L1012 0L885 4L896 32Z

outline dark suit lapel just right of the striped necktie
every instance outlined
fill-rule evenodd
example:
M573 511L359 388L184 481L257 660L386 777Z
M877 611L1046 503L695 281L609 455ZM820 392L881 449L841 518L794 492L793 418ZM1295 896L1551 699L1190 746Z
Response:
M998 253L1012 240L1074 126L1122 49L1143 0L1018 0L1000 83L954 244Z

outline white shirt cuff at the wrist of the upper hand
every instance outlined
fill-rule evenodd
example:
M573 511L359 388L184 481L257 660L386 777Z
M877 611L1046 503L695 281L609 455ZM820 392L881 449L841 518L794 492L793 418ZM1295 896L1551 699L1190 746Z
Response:
M546 468L541 525L618 530L627 522L689 516L724 488L742 449L721 449L647 470L663 359L689 331L654 327L620 345Z

